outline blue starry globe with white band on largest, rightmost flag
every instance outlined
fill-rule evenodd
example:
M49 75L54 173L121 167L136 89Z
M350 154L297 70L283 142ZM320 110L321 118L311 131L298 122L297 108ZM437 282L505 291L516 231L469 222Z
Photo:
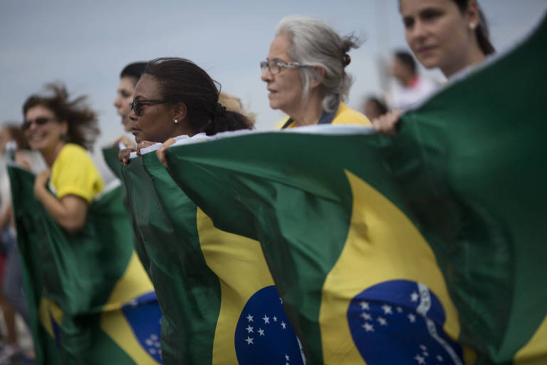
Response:
M350 302L348 322L368 365L463 365L462 347L443 331L439 299L424 284L392 280Z

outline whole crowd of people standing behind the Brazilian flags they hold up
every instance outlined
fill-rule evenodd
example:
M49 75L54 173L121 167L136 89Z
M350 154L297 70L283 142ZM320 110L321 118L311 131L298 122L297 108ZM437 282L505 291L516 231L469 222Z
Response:
M379 133L394 135L404 110L439 87L420 76L415 58L425 68L439 68L450 81L494 53L486 19L476 0L400 0L399 4L412 54L395 53L390 73L397 79L397 88L388 103L380 97L368 98L364 114L345 104L352 84L345 67L360 61L350 57L350 50L358 48L360 41L341 36L318 19L289 16L280 21L260 67L270 107L286 114L281 129L354 124L372 125ZM253 129L256 118L244 110L238 98L220 93L206 71L184 58L130 63L120 73L113 104L123 131L135 136L135 140L127 135L112 138L123 165L130 162L132 153L162 143L157 155L167 166L165 150L178 136ZM37 200L66 232L78 232L85 224L89 205L105 186L88 154L99 134L97 114L85 96L72 98L65 86L50 84L47 93L30 96L23 103L23 117L20 126L4 125L0 148L4 151L7 141L16 141L16 163L37 173ZM36 153L43 158L45 169ZM4 277L0 305L7 337L0 364L9 364L9 359L19 353L14 312L28 322L28 311L22 294L9 181L3 174L0 229Z

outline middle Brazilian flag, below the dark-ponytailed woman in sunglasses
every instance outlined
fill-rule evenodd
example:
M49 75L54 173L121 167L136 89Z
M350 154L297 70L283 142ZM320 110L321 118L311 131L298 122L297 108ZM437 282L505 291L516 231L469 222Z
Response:
M303 364L259 242L214 227L153 152L122 175L163 312L165 364Z

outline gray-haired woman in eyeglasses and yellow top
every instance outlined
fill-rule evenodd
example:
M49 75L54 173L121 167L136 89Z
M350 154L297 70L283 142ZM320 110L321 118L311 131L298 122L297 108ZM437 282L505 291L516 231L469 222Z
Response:
M272 109L288 119L283 128L313 124L363 124L365 115L343 103L352 78L345 73L353 36L340 36L318 19L288 16L276 27L266 61L260 63Z

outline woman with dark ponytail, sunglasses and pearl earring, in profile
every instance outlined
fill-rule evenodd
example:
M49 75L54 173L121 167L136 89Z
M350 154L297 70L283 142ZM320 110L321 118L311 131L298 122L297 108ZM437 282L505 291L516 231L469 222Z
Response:
M139 149L178 135L214 135L253 127L245 115L219 103L215 81L184 58L157 58L148 63L135 86L129 118ZM132 151L120 151L125 165Z

